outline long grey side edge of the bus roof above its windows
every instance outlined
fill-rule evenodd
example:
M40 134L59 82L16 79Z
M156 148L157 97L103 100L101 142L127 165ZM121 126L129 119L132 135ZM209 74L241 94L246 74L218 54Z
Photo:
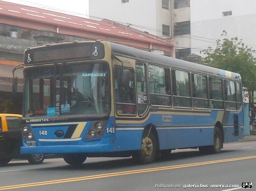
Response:
M192 72L210 74L210 75L215 75L220 77L226 77L228 79L241 81L241 76L238 73L234 73L234 72L230 72L230 71L226 71L218 68L213 68L213 67L209 67L201 64L196 64L196 63L192 63L192 62L188 62L185 60L180 60L180 59L176 59L176 58L172 58L164 55L159 55L152 52L147 52L144 50L116 44L113 42L110 42L110 45L112 48L112 53L115 55L128 56L144 62L160 64L162 66L167 66L167 67L172 67L172 68L182 69L182 70L187 70Z

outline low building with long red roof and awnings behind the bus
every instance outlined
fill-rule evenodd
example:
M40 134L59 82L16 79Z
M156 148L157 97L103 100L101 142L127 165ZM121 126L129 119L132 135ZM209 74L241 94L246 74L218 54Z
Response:
M13 68L23 64L24 50L62 42L108 40L134 48L174 53L170 41L148 37L116 25L0 1L0 112L22 112L23 70L17 69L17 94L12 94Z

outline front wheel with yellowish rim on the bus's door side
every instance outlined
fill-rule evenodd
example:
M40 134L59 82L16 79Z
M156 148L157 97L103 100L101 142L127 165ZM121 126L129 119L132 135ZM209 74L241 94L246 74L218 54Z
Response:
M156 138L153 132L148 134L144 131L142 135L141 150L137 151L132 157L141 164L152 163L156 156Z

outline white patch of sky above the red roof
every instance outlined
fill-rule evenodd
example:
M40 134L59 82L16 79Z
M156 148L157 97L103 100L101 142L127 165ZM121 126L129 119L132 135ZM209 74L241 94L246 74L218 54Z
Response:
M89 15L89 0L3 0L12 3L24 4L38 8L47 8L52 11L86 17ZM89 16L88 16L89 17ZM88 18L86 17L86 18Z

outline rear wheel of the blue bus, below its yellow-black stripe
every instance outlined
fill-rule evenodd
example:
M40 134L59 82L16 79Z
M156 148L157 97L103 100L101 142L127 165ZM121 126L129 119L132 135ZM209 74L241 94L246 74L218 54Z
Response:
M222 133L218 127L214 128L213 135L213 145L210 146L200 146L199 151L203 154L217 154L221 152L223 148L223 138Z

